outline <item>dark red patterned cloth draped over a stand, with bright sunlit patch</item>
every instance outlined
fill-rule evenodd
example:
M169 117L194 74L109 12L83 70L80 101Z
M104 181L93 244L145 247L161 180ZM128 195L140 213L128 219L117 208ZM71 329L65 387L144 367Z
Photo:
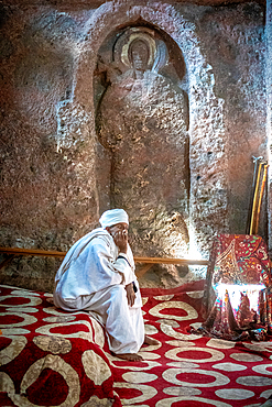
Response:
M270 261L261 237L220 234L215 239L207 271L198 330L238 341L265 340L272 333Z

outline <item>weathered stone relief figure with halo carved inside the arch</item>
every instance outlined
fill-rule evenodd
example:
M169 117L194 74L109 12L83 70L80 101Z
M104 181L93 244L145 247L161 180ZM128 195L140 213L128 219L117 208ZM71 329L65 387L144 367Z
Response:
M104 50L96 120L99 141L112 154L111 205L128 210L138 255L184 256L189 166L182 56L174 61L165 38L142 26L119 33L111 55Z

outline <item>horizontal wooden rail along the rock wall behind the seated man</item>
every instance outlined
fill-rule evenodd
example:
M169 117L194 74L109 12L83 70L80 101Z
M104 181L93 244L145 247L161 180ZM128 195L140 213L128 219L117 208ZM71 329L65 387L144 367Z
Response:
M67 252L58 252L55 250L39 250L39 249L21 249L21 248L0 248L0 254L7 254L7 258L0 264L0 268L7 266L15 256L45 256L63 258ZM208 265L208 260L189 260L189 258L171 258L171 257L138 257L134 256L135 263L144 264L137 272L137 276L141 277L145 274L153 264L176 264L176 265Z

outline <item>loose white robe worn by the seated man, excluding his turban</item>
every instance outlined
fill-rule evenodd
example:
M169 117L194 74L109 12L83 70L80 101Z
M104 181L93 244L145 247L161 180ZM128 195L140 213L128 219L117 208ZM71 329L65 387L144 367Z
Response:
M134 282L133 307L126 285ZM107 230L98 228L78 240L55 277L54 304L65 310L87 310L105 326L109 348L117 354L137 353L144 341L142 299L130 246L120 253Z

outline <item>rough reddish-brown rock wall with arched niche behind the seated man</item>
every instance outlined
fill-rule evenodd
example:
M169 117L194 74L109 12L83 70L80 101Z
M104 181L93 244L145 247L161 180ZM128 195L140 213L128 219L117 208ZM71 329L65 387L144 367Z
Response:
M215 233L246 231L268 144L262 6L6 1L0 14L2 246L67 250L115 205L138 255L207 257ZM153 30L167 57L117 85L104 66L129 28ZM52 289L58 264L17 260L0 279ZM140 283L203 273L154 267Z

